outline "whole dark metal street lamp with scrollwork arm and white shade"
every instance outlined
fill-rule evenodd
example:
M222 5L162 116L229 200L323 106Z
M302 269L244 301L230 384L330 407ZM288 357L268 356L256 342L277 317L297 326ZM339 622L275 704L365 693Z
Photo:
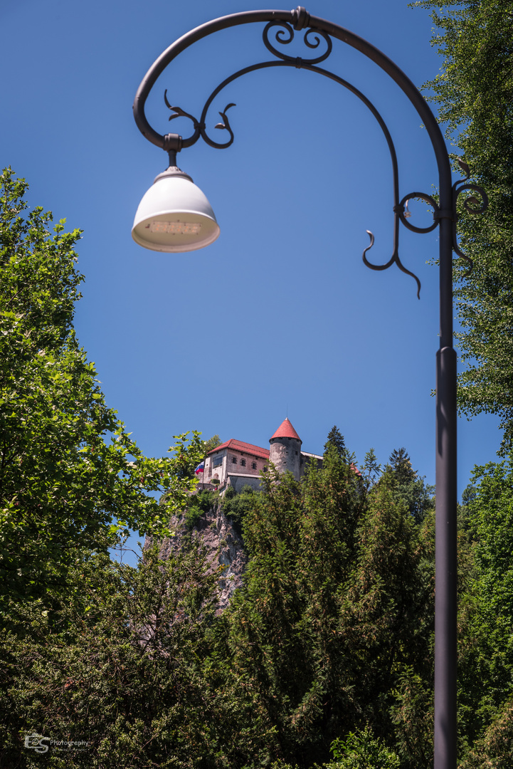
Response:
M170 117L189 118L193 132L188 138L177 134L160 135L147 122L144 104L151 88L164 68L180 52L189 48L201 38L221 29L242 24L264 22L263 42L273 56L270 61L259 62L235 72L223 80L205 102L200 119L177 106L171 106L164 93L167 107L173 113ZM294 31L306 30L303 42L306 45L306 58L292 57L286 54L284 46L294 37ZM270 37L273 35L273 42ZM439 201L422 192L410 192L399 199L399 173L396 150L389 130L374 105L362 92L343 78L329 72L319 64L324 62L332 51L332 38L351 45L367 58L372 59L394 80L409 98L428 131L432 148L439 168ZM207 112L213 98L247 72L270 67L295 67L317 72L348 88L369 108L385 135L392 160L394 191L394 247L392 257L385 265L372 265L366 253L372 248L374 237L371 232L370 245L363 251L363 261L374 270L385 270L395 263L399 269L412 275L420 291L419 278L407 270L399 259L399 222L414 232L424 233L440 228L439 263L440 263L440 348L437 352L436 375L436 522L435 522L435 769L455 769L456 767L456 353L452 347L452 251L468 261L462 254L456 239L456 200L463 190L473 190L481 196L466 198L463 205L471 213L482 213L488 205L485 192L469 183L469 170L465 163L460 166L465 171L465 179L452 184L451 166L442 132L429 106L422 98L415 85L386 55L366 40L352 32L328 22L323 18L309 15L305 8L294 11L250 11L223 16L201 25L188 32L170 45L157 58L141 83L134 101L134 118L143 135L157 147L168 152L170 167L157 176L154 185L144 195L137 210L132 234L134 239L146 248L157 251L190 251L211 243L219 235L219 227L212 208L203 193L193 184L187 174L177 168L177 152L190 147L201 137L214 148L227 148L233 142L233 131L227 117L227 110L234 106L228 104L220 113L223 122L216 128L227 131L229 138L224 143L213 141L206 131ZM420 198L433 209L433 223L430 227L415 227L408 221L408 200ZM473 208L472 208L473 207Z

